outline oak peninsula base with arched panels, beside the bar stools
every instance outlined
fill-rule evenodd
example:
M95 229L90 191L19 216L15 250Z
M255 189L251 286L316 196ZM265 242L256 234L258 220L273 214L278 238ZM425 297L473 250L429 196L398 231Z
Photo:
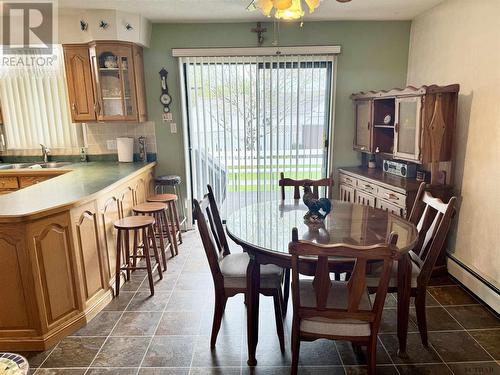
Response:
M0 214L0 350L41 351L52 347L111 301L116 260L113 221L122 218L131 201L142 203L152 194L154 166L150 163L134 168L134 172L110 180L110 185L89 191L77 201L60 205L56 194L50 197L57 201L53 207L26 215ZM86 186L83 190L75 188L78 195L95 183L89 181L92 176L106 178L86 172L89 168L68 172L61 176L64 181L46 181L36 189L44 184L51 190L65 184L73 186L74 180L76 186ZM106 174L108 169L102 172ZM22 207L3 209L23 211Z

